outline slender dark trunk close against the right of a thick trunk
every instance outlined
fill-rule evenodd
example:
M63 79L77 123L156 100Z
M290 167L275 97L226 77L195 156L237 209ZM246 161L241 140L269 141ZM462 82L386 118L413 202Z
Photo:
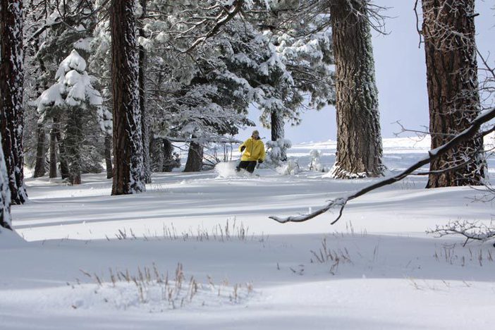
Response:
M139 35L145 37L145 29L143 27L146 13L147 0L140 0L142 12L139 20ZM142 125L142 161L145 171L145 183L152 182L151 161L149 159L149 120L146 109L146 50L142 45L139 46L139 107L141 109L141 125Z

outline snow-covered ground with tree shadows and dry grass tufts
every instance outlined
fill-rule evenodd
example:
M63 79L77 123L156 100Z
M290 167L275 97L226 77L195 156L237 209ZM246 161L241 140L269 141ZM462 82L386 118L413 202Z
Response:
M429 141L384 140L388 175ZM334 161L334 142L295 145ZM490 161L495 169L495 164ZM13 207L28 243L2 233L0 329L491 329L495 248L425 231L491 221L470 188L413 176L304 224L278 224L375 179L302 171L259 177L158 173L147 193L111 197L104 174L67 186L27 179ZM225 174L225 173L222 173ZM225 175L224 175L225 176Z

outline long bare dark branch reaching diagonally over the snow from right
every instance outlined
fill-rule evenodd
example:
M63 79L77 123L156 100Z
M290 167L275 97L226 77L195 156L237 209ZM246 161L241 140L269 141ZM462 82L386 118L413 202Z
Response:
M481 126L484 123L488 123L494 118L495 118L495 107L485 111L484 114L480 114L479 116L477 116L477 118L475 118L475 120L471 122L471 125L468 128L463 130L458 135L454 136L452 140L450 140L444 145L441 145L436 149L429 150L427 157L424 157L424 159L421 159L420 161L417 161L417 163L412 164L408 169L405 169L405 171L399 173L396 176L392 176L391 178L386 178L384 180L378 181L377 183L373 183L372 185L368 185L367 187L357 191L357 193L354 193L353 195L349 195L348 197L339 197L334 200L330 200L324 207L317 209L316 211L310 214L301 214L299 216L288 216L285 218L279 216L270 216L269 218L278 221L281 224L286 224L287 222L303 222L313 219L314 217L319 216L321 214L324 214L330 209L338 208L338 216L334 221L331 222L331 224L335 224L339 219L341 219L343 209L344 207L346 207L346 204L350 200L355 200L357 197L365 195L373 190L384 187L386 185L391 185L392 183L396 183L398 181L403 180L403 178L412 175L413 173L415 173L415 171L422 168L422 166L429 164L431 161L434 161L435 159L438 159L442 155L446 154L453 147L458 146L461 142L469 140L470 138L477 135ZM495 126L487 130L484 130L479 134L485 136L494 131L495 131Z

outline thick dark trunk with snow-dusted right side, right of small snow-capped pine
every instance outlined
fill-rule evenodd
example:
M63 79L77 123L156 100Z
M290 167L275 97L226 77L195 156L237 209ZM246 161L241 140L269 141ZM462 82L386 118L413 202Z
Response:
M112 195L144 191L134 1L111 1L114 181Z

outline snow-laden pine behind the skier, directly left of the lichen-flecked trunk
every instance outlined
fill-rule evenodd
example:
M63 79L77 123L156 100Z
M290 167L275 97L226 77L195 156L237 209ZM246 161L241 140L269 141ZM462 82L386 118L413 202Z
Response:
M254 9L250 21L276 46L293 79L294 96L286 106L294 113L264 114L264 126L271 128L271 140L277 141L284 138L286 121L299 123L300 109L322 109L335 103L328 8L326 1L265 0L256 1Z

